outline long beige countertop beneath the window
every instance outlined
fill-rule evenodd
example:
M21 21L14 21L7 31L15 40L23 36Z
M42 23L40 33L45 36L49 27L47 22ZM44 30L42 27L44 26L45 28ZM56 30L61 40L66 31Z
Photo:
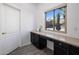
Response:
M76 47L79 47L79 39L78 38L68 37L68 36L59 35L59 34L49 34L49 33L46 33L46 32L37 32L37 31L32 31L32 32L39 34L39 35L49 37L49 38L54 38L55 40L65 42L65 43L74 45Z

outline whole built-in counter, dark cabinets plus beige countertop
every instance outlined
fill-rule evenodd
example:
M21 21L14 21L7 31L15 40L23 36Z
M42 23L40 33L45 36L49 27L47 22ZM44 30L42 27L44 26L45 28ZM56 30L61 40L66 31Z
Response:
M54 43L54 55L79 55L79 39L47 32L31 32L31 42L39 49L47 47L47 40Z

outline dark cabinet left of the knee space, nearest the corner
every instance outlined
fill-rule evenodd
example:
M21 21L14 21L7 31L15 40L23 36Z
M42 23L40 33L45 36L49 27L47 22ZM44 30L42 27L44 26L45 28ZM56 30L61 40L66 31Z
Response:
M31 43L39 49L47 47L47 40L36 33L31 32Z

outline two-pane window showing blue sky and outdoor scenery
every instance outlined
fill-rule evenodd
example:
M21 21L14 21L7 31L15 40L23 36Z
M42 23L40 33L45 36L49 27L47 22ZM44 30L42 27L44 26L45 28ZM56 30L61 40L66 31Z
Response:
M66 8L64 5L45 12L46 30L66 32Z

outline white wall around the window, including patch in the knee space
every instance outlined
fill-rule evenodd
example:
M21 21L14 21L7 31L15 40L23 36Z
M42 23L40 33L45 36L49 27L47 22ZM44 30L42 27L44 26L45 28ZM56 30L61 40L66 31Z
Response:
M51 8L54 8L60 4L39 4L37 8L37 13L36 13L36 21L37 21L37 28L42 25L43 30L45 29L45 15L44 12L47 10L51 10ZM79 38L79 4L67 4L67 33L57 33L57 32L50 32L46 31L49 33L56 33L56 34L61 34L61 35L66 35L66 36L71 36L71 37L76 37ZM53 49L52 42L48 41L48 47L50 49Z

